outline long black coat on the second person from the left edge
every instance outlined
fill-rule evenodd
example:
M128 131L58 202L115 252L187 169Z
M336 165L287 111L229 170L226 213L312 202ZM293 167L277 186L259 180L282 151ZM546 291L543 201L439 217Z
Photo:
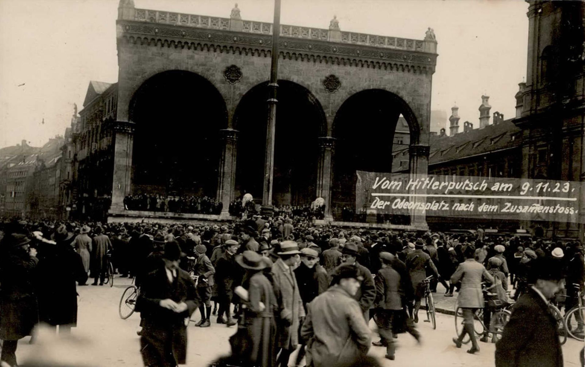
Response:
M71 241L39 245L37 295L40 321L77 326L77 285L87 281L81 256Z

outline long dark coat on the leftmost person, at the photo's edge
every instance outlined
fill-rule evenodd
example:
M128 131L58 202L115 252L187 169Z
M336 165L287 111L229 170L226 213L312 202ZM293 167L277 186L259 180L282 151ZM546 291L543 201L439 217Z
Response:
M20 250L20 249L19 249ZM30 335L39 321L33 276L39 260L22 254L0 259L0 339L19 340Z

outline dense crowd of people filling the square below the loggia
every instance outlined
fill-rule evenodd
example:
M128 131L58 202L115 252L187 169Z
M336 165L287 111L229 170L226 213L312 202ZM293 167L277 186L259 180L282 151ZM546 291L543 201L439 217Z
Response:
M463 333L453 339L456 347L469 334L468 352L479 352L473 310L486 307L481 282L501 290L504 302L510 302L505 289L515 285L514 297L523 308L512 313L497 344L496 365L538 365L532 363L538 347L549 348L539 356L550 359L547 366L562 366L556 327L546 338L552 344L535 347L544 339L536 326L526 327L535 321L527 321L525 311L539 317L535 307L563 282L578 283L583 290L578 241L487 238L483 231L451 236L345 230L315 226L305 216L294 216L292 208L280 214L208 225L2 223L2 361L16 365L16 341L39 322L65 333L75 326L75 283L85 285L93 278L92 285L102 285L109 251L119 276L135 277L140 286L136 311L140 351L148 366L185 363L184 320L197 310L197 327L214 322L238 329L229 340L232 353L215 365L302 366L305 360L314 367L373 366L377 362L366 356L372 345L385 347L386 358L393 360L398 334L421 340L416 326L429 275L432 292L441 282L444 296L458 296L465 321ZM575 291L567 288L566 310L576 302ZM489 313L484 310L484 317ZM380 340L371 340L371 318ZM289 361L297 349L296 360Z

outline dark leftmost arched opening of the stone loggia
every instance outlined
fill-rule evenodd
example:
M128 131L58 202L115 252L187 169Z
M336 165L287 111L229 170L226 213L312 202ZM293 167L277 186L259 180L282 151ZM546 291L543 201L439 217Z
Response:
M145 81L130 101L136 123L132 193L215 198L225 102L193 72L171 70Z

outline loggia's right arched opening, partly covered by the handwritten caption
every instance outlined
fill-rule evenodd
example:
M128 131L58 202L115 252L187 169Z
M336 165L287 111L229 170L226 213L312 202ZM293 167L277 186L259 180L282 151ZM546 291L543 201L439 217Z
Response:
M408 130L408 137L403 130ZM393 148L419 143L418 121L408 104L397 95L382 89L367 89L343 102L333 120L333 137L337 139L331 188L333 219L366 221L365 208L356 208L356 171L393 172ZM405 223L408 217L404 216L380 214L376 220L408 224Z

